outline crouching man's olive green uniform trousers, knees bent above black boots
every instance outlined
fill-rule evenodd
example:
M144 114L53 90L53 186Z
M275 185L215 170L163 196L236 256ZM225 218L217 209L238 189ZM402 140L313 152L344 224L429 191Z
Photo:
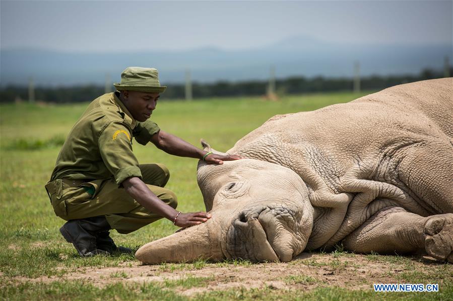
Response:
M163 164L140 164L142 180L164 203L176 208L176 195L163 188L170 172ZM46 184L55 214L63 220L105 216L112 229L130 233L162 217L140 205L124 188L112 179L93 180L78 186L68 180L54 180Z

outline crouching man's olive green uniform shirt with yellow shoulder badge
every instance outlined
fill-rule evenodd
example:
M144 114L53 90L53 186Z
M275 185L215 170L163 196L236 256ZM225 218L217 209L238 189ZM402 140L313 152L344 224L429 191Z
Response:
M142 178L132 137L147 144L159 132L151 120L138 122L115 93L96 98L74 125L56 159L51 180L107 179L117 184Z

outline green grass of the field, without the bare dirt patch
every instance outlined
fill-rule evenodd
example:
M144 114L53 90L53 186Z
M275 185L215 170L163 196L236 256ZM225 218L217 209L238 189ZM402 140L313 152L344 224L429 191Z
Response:
M328 93L285 96L279 102L268 102L255 98L215 98L204 101L161 102L153 114L159 126L189 143L199 146L200 138L208 141L219 151L227 151L234 143L277 114L310 111L335 103L349 102L360 95L352 93ZM75 105L9 104L0 106L0 298L1 299L186 299L177 293L178 289L204 286L212 277L187 276L163 283L124 282L129 274L113 272L105 279L113 282L99 286L85 280L64 280L73 271L87 268L119 267L137 265L133 255L96 256L80 258L71 244L58 232L64 223L55 217L49 204L44 184L49 179L60 146L73 124L87 107ZM141 163L162 162L171 171L167 187L179 199L178 209L183 212L204 210L201 192L196 182L197 160L167 155L152 145L134 144L134 152ZM172 234L176 227L170 221L160 220L128 235L112 231L112 238L118 245L133 249L149 241ZM328 266L341 271L352 266L353 253L338 246L332 253L330 263L315 259L297 260L297 264L313 268ZM340 260L347 257L348 261ZM351 257L351 258L349 258ZM369 260L384 260L384 256L369 255ZM400 260L391 256L389 260ZM392 262L387 262L392 264ZM409 261L410 263L410 261ZM249 268L247 260L225 260L209 264L206 260L193 263L162 264L161 272L197 271L207 266L236 269ZM443 275L451 268L439 265L427 274L411 273L405 270L402 280L416 281L449 277ZM47 276L54 281L31 281ZM21 278L25 277L25 279ZM285 278L288 283L315 281L310 277L294 275ZM451 296L452 285L437 296ZM77 292L77 293L76 293ZM448 295L449 293L449 295ZM320 297L321 296L321 297ZM382 295L379 295L382 296ZM398 294L389 295L391 297ZM297 290L274 290L271 287L253 289L226 289L197 295L202 300L217 299L348 299L374 298L363 291L350 291L336 287L318 287L311 292Z

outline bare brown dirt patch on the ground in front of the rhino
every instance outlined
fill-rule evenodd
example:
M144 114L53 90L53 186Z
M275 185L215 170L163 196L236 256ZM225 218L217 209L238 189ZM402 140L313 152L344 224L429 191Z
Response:
M119 267L84 267L62 277L15 277L19 282L51 282L55 280L88 280L96 286L113 282L157 282L172 285L182 295L194 295L212 290L245 287L310 290L318 286L338 286L347 289L372 289L373 283L402 283L401 274L419 271L427 273L439 266L430 257L370 256L345 253L302 253L289 263L206 263L141 265L125 263ZM447 265L453 273L453 265ZM198 278L196 283L174 284L175 281ZM197 280L197 279L196 279ZM434 280L434 279L433 279ZM437 280L436 280L437 281ZM171 284L173 282L173 284ZM170 283L170 284L168 284Z

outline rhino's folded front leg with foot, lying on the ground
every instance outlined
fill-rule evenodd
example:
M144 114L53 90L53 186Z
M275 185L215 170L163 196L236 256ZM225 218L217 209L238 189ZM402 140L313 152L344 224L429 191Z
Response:
M384 208L343 240L346 249L359 252L414 252L453 262L453 214L421 217L403 208Z

